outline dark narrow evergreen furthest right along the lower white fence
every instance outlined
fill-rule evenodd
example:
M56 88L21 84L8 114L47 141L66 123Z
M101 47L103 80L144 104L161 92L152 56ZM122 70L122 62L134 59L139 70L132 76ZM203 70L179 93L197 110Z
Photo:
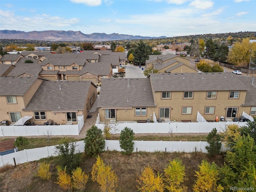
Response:
M206 146L206 150L208 151L208 156L213 157L216 154L220 153L221 142L220 142L220 134L217 133L217 129L214 128L206 137L207 142L210 146Z

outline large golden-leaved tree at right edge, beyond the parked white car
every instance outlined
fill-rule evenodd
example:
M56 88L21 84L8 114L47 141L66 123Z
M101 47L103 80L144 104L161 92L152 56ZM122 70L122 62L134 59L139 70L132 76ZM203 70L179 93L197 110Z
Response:
M242 43L236 42L234 47L228 53L228 62L240 66L240 67L248 67L250 62L250 56L252 54L252 58L256 52L256 42L250 43L250 38L244 38ZM252 51L253 50L253 51Z

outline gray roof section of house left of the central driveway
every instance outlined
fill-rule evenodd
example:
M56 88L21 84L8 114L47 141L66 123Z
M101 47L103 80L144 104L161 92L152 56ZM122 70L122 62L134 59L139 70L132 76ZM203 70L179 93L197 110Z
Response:
M86 63L80 71L80 75L90 72L96 75L109 75L111 65L108 62Z

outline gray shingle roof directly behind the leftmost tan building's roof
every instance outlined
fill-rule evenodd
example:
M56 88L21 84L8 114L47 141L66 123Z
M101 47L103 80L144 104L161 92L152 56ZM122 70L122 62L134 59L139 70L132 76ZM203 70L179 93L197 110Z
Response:
M41 65L35 63L35 61L34 63L17 62L15 66L16 67L8 74L8 76L16 77L24 73L36 76L36 74L39 74L43 70Z

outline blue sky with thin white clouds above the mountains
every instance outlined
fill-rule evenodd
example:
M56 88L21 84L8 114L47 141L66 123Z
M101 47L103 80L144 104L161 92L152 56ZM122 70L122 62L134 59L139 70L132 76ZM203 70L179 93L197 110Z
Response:
M256 31L256 0L1 0L0 30L150 37Z

